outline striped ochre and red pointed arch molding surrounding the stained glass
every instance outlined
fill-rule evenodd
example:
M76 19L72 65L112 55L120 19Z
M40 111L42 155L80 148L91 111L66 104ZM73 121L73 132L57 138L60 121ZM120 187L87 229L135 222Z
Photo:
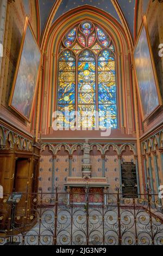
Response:
M116 48L116 62L117 62L117 87L118 87L118 126L121 129L122 127L126 127L127 133L130 130L133 131L134 126L129 125L133 124L133 112L130 115L127 111L128 104L130 105L130 101L132 101L132 97L129 102L125 101L121 102L121 98L126 99L127 89L131 91L131 95L133 94L131 88L131 81L127 85L123 77L131 75L130 69L130 57L128 57L128 65L124 65L124 60L126 59L126 55L131 56L130 42L129 37L126 34L123 26L109 14L104 15L104 13L100 12L97 15L97 9L92 7L82 7L79 8L79 11L68 11L65 15L62 15L60 19L55 21L52 26L49 28L49 32L47 35L46 42L43 42L45 45L43 51L43 66L42 66L42 80L40 81L40 102L45 100L45 104L47 108L41 108L40 111L40 131L43 129L44 134L48 134L52 129L53 124L53 112L56 107L56 88L57 88L57 58L58 58L58 49L59 44L62 37L65 35L67 31L69 31L73 26L77 23L80 23L84 20L89 20L93 23L98 24L100 27L104 29L104 31L109 34L112 39L113 44ZM122 61L123 59L123 61ZM48 82L46 82L48 81ZM56 81L56 82L55 82ZM121 82L123 83L121 85ZM126 89L121 90L121 86ZM127 88L128 87L128 88ZM41 88L42 95L41 95ZM43 95L46 95L45 97ZM42 99L42 100L41 100ZM51 102L51 103L49 103ZM126 117L127 115L127 117ZM44 118L43 118L44 117ZM128 121L130 119L130 121ZM37 130L36 129L36 130Z

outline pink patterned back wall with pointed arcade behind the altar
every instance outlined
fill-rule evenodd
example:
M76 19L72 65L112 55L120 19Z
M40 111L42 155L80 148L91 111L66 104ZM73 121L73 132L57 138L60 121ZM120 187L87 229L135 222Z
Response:
M65 191L67 176L82 176L84 143L44 143L40 159L39 188L43 192L53 192L58 186ZM110 184L110 192L116 186L122 188L121 164L136 164L138 192L140 193L138 160L135 143L90 143L92 176L105 176Z

